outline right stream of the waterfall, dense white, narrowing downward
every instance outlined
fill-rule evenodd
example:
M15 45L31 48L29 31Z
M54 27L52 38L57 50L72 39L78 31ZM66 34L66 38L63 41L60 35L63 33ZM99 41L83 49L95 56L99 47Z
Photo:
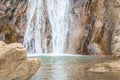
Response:
M46 3L52 28L53 53L64 53L69 30L69 0L47 0Z

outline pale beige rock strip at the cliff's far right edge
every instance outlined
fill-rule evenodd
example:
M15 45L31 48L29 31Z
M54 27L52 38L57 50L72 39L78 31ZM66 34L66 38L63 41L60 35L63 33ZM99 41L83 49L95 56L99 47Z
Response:
M111 7L109 6L109 10L111 15L113 15L112 20L115 24L111 42L111 50L114 55L120 56L120 0L113 0L111 5Z

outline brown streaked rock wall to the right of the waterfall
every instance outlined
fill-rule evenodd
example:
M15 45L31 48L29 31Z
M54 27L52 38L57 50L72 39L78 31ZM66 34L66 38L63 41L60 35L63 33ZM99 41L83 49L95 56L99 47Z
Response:
M74 0L73 5L78 26L77 37L72 36L75 53L119 55L120 1Z

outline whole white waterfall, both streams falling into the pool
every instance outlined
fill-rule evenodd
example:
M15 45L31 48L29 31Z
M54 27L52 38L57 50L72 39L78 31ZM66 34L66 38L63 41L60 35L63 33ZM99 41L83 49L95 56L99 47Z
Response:
M52 30L52 53L64 53L69 30L69 0L28 0L24 46L28 53L47 53L45 2Z

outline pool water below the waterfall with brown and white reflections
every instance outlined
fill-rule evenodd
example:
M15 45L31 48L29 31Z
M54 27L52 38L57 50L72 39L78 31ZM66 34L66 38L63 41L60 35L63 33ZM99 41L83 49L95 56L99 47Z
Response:
M42 65L31 80L119 80L119 74L92 73L95 63L111 58L93 56L41 56Z

